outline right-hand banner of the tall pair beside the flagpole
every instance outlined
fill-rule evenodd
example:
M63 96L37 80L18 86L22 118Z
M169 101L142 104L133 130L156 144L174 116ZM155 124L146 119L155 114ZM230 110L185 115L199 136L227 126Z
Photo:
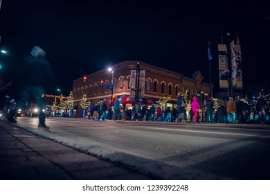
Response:
M241 58L241 46L240 44L234 44L231 42L231 79L233 87L242 89L242 58Z

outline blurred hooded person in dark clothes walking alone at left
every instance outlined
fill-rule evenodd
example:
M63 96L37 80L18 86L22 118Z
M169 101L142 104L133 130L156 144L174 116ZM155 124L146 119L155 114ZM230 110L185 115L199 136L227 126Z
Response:
M46 53L39 46L34 46L30 55L24 58L23 67L20 69L21 75L21 104L37 103L39 105L39 125L38 129L48 130L45 125L46 113L44 94L49 89L52 81L51 64L46 60Z

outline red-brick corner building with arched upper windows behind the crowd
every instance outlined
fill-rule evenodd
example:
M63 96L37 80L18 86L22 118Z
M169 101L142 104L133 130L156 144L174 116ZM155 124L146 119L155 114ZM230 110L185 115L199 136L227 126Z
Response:
M133 97L134 94L136 96L136 93L132 89L136 90L136 88L132 83L131 72L136 70L137 64L141 70L138 78L141 91L138 92L138 97L142 103L157 103L163 97L170 96L168 105L174 106L179 91L182 93L188 91L188 98L201 91L209 94L210 85L203 82L204 77L200 71L195 72L192 78L188 78L181 73L168 71L144 62L124 61L111 67L114 69L114 73L109 72L108 69L102 69L87 75L87 82L83 82L83 78L73 80L73 98L77 108L74 116L82 116L80 102L83 94L87 94L87 100L93 104L102 98L107 98L108 105L111 105L111 89L100 87L100 80L103 80L105 85L111 85L112 77L114 77L114 96L121 96L124 108L134 104Z

